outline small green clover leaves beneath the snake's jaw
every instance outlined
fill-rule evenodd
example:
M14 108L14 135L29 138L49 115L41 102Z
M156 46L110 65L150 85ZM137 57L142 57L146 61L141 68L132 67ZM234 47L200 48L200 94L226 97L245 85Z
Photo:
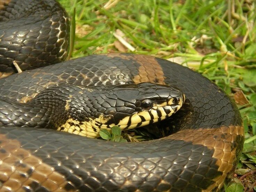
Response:
M121 136L121 128L118 126L113 126L111 128L111 133L107 129L101 129L99 131L99 135L101 138L109 141L114 141L114 142L127 142L126 139L124 139Z

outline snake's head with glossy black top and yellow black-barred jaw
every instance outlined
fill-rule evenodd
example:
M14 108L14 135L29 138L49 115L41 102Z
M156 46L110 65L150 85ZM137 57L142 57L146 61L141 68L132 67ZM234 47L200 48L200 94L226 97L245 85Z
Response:
M166 119L184 100L177 88L148 82L81 88L70 99L71 116L64 126L79 126L79 135L98 137L101 128L131 129Z

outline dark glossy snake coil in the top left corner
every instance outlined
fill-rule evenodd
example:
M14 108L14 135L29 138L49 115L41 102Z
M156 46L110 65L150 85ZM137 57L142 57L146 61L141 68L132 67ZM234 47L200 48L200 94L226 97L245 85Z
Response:
M0 9L0 72L16 73L13 61L22 71L64 61L69 30L55 0L11 0Z

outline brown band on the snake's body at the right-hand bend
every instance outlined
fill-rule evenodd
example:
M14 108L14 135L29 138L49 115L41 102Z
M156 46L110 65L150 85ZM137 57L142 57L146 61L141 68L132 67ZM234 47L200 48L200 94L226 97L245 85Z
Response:
M167 138L191 141L194 145L204 145L209 150L214 151L213 158L217 159L216 166L218 166L218 171L222 175L214 178L213 181L215 183L203 191L216 191L223 187L225 178L233 178L238 162L237 155L242 150L242 146L239 146L239 143L244 140L244 131L241 126L223 126L216 129L187 129L163 139Z

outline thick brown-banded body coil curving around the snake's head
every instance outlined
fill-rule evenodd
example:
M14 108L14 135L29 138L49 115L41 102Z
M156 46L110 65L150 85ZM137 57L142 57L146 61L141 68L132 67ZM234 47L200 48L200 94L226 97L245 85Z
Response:
M1 2L0 11L7 4ZM0 65L9 67L17 57L12 57L14 51L2 54L9 51L6 42L1 47L3 41ZM58 50L65 53L64 48ZM3 74L15 71L8 67ZM0 97L22 103L53 86L141 82L174 86L185 94L181 109L168 119L174 134L147 142L114 143L43 127L18 127L15 122L5 126L20 114L8 114L0 106L0 191L220 190L233 177L242 151L242 119L229 96L187 67L145 55L91 55L2 78Z

